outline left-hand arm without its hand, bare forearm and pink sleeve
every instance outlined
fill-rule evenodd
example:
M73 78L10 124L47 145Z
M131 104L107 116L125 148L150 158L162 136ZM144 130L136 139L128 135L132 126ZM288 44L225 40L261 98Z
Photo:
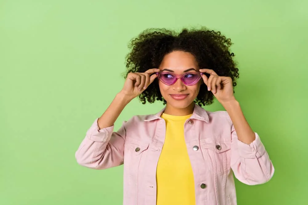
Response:
M75 153L78 164L93 169L123 164L125 122L117 132L113 132L113 124L129 101L123 94L117 94L103 115L94 121Z

